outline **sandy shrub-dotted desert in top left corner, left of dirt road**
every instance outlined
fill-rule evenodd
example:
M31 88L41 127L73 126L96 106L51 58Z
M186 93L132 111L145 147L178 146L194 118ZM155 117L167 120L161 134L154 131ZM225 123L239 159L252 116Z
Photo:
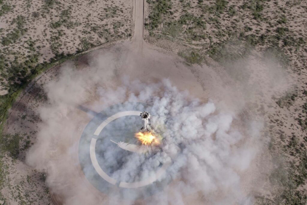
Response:
M131 1L17 0L1 6L2 93L7 83L25 78L39 63L132 34Z

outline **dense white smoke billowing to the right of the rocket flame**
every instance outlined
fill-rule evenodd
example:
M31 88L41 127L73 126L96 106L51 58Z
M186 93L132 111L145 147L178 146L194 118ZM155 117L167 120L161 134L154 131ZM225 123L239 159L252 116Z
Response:
M258 132L240 132L233 124L235 116L230 114L232 112L221 113L212 101L200 102L188 92L180 92L166 79L150 85L128 82L111 93L112 96L126 95L128 101L152 104L151 123L153 126L165 124L161 152L151 159L139 155L126 159L126 174L121 180L129 181L139 175L135 167L142 166L143 172L148 173L158 165L153 161L165 162L174 156L164 177L180 180L178 186L170 185L177 196L201 193L210 200L209 204L244 200L240 172L246 170L255 157L257 146L251 147L249 143L257 141ZM103 96L102 99L107 100L107 96ZM111 155L108 157L111 158L109 161L115 160ZM179 202L169 197L168 192L163 192L152 203Z

